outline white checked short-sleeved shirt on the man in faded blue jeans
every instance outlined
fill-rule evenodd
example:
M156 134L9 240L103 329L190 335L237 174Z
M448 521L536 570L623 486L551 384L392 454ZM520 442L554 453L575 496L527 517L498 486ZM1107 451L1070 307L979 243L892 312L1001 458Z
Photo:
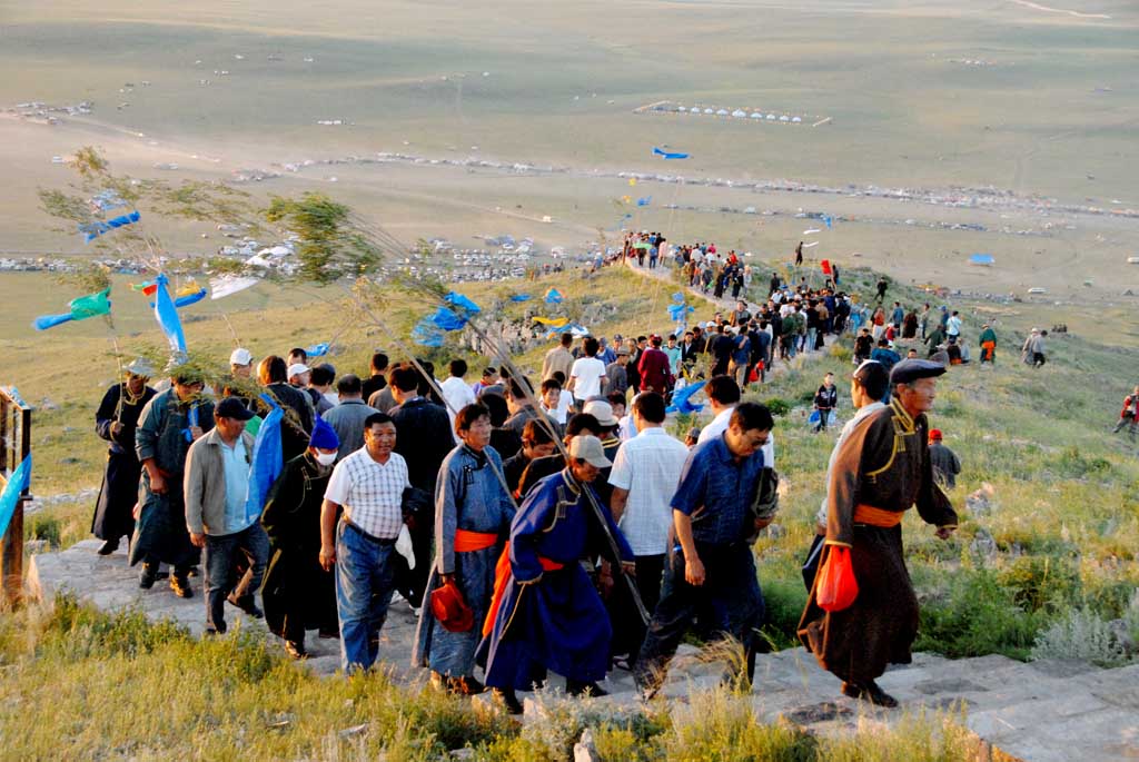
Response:
M378 464L361 448L336 464L325 489L325 499L344 507L344 516L368 534L394 540L403 526L403 490L408 464L393 452Z

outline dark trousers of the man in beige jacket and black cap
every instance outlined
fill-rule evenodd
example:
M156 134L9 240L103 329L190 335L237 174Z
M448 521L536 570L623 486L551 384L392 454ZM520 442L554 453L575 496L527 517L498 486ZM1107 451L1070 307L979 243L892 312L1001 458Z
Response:
M239 556L248 568L240 580L235 571ZM269 536L254 523L240 532L206 535L206 629L226 631L226 598L235 603L249 600L261 587L269 563ZM235 584L236 582L236 584Z

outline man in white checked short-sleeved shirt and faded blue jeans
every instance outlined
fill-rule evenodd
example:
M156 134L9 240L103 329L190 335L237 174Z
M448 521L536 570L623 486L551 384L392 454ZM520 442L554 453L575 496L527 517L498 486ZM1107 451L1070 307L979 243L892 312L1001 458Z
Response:
M408 464L392 452L392 418L372 413L363 426L363 446L336 464L320 511L320 565L326 571L336 566L336 613L345 673L367 670L376 662L379 630L395 589L395 540L403 526L403 491L411 486ZM337 522L341 508L344 513Z

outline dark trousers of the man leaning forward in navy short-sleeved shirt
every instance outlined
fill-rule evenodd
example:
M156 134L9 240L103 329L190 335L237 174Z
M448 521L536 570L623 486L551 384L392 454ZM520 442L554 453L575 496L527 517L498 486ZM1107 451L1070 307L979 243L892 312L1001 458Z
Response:
M655 689L664 682L669 662L697 620L712 638L731 636L738 640L751 664L755 631L763 624L764 615L752 548L745 542L697 544L696 552L705 572L700 587L685 580L686 563L681 552L674 554L672 565L664 570L661 600L633 670L637 685L642 689Z

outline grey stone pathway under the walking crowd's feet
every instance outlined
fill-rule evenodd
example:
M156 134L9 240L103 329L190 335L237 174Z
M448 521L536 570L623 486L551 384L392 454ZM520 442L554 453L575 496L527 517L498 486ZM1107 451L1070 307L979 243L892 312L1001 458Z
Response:
M31 596L50 600L56 591L71 590L106 611L138 607L153 620L169 618L200 633L205 622L202 582L194 580L195 597L174 597L164 582L139 590L137 571L126 566L120 551L100 557L98 540L79 542L67 550L32 556L27 587ZM228 607L231 628L263 632L276 644L262 622ZM409 681L425 679L410 667L416 618L405 603L393 606L383 630L379 657ZM339 666L338 641L318 640L310 633L312 657L306 665L317 674L331 674ZM663 695L677 705L688 703L694 688L710 688L720 666L695 658L683 648L673 663ZM555 690L557 690L557 682ZM1139 665L1100 670L1083 663L1021 663L1003 656L951 661L917 654L915 663L893 669L882 687L910 713L937 711L961 704L968 727L1013 759L1031 762L1116 762L1139 760ZM591 699L614 711L637 705L632 678L614 671L605 683L609 697ZM868 710L838 694L838 681L823 672L803 649L761 655L756 661L753 702L764 721L777 720L820 732L843 732L859 723L888 726L903 716L899 710ZM527 702L533 714L536 703ZM1008 759L1007 756L1003 759Z

